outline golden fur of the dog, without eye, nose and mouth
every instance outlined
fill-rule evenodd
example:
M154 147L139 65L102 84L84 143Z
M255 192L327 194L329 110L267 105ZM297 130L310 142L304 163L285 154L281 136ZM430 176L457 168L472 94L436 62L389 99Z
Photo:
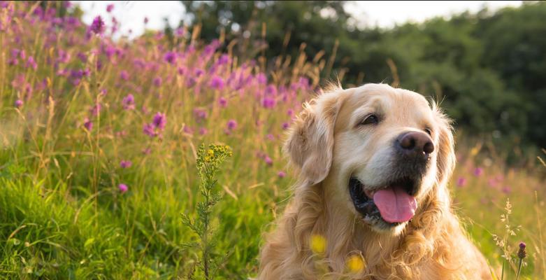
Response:
M373 131L355 131L355 116L369 108L388 121ZM373 230L350 204L347 174L365 174L365 167L381 161L377 157L388 139L424 123L433 127L436 149L416 196L417 212L391 231ZM261 248L258 279L491 279L487 262L450 208L454 141L450 121L436 104L384 84L332 89L304 104L285 152L299 169L299 181ZM312 235L326 239L323 254L310 249ZM350 272L347 258L355 254L366 265Z

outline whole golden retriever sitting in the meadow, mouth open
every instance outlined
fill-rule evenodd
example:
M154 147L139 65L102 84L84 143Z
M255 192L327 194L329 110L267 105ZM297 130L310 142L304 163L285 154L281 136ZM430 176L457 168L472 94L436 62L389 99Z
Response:
M258 279L491 279L450 207L450 121L422 95L328 90L304 104L285 152L299 180Z

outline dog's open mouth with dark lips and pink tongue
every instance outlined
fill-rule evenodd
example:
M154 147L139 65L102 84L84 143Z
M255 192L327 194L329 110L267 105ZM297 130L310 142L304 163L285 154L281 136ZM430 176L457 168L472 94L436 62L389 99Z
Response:
M416 189L417 181L409 177L391 181L380 188L366 187L355 177L349 181L354 209L372 225L396 226L410 221L417 209Z

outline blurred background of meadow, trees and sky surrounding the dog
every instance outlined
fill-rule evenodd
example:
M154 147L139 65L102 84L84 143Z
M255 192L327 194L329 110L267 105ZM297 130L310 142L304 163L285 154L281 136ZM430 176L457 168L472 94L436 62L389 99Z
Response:
M441 102L468 235L498 279L521 241L520 279L546 279L545 19L538 1L0 1L0 276L255 276L295 180L285 130L339 81ZM232 151L206 251L180 216L205 213L201 144Z

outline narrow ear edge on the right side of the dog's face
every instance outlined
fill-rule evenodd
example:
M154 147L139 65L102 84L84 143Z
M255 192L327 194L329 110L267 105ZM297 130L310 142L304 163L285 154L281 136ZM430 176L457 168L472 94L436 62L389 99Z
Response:
M433 104L433 111L438 122L438 159L436 160L438 165L437 181L440 186L446 186L447 181L450 180L453 169L455 168L455 141L453 139L451 120L448 119L444 113Z

